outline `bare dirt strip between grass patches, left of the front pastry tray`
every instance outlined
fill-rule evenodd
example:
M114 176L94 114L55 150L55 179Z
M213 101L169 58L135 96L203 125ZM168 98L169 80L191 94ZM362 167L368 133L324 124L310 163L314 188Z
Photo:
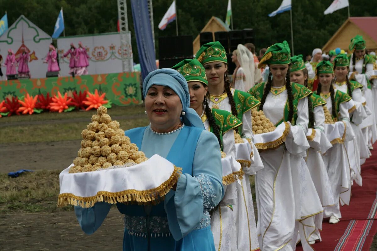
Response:
M77 157L77 146L80 146L80 140L0 144L0 172L20 169L63 170Z

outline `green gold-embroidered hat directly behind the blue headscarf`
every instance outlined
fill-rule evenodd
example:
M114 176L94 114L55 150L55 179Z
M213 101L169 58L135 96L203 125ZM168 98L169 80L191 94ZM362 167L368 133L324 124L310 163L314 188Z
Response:
M199 81L208 85L203 65L194 59L185 59L172 67L184 76L187 82Z

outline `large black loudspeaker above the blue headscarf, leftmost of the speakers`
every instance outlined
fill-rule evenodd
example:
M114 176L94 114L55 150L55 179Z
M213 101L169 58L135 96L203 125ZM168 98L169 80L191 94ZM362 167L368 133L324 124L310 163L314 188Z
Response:
M160 37L158 39L160 59L193 58L192 36Z

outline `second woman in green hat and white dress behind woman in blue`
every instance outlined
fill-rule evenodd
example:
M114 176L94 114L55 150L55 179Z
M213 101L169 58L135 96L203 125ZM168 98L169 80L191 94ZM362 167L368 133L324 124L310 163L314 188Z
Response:
M238 250L250 250L250 247L251 250L254 250L259 247L259 244L249 175L254 173L254 170L263 168L263 165L253 143L251 109L256 107L259 102L250 94L230 87L226 73L228 69L227 53L221 43L216 41L204 44L196 53L195 58L204 66L207 76L208 91L210 92L208 105L211 108L228 111L241 120L242 125L239 126L238 133L249 141L251 149L253 149L250 154L254 156L254 163L243 169L245 174L240 181L241 189L238 190L238 201L233 205L233 211Z

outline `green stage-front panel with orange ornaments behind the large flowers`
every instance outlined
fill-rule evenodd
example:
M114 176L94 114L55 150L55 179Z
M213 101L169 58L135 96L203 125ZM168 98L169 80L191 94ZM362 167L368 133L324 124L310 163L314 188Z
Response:
M124 72L98 75L86 75L59 78L38 78L0 81L0 102L12 96L31 96L50 93L56 95L68 93L72 97L74 91L87 90L94 93L106 93L106 99L113 105L135 105L141 103L140 73Z

